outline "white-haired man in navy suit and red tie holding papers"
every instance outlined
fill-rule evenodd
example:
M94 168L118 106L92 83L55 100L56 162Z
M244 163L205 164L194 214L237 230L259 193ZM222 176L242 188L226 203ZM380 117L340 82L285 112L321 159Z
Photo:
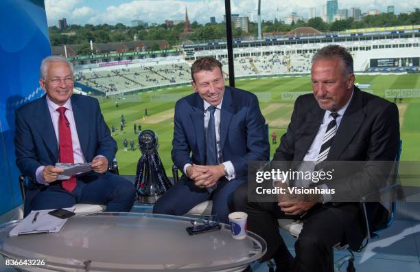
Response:
M49 56L40 67L47 92L16 110L16 164L30 177L25 215L32 209L106 205L109 212L129 212L135 199L130 181L107 172L117 144L110 136L95 98L73 94L73 66ZM56 163L91 162L91 172L58 180ZM62 178L60 178L62 179Z

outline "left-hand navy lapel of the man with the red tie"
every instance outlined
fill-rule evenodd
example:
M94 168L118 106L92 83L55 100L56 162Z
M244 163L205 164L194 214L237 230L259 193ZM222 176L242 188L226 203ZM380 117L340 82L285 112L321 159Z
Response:
M34 111L34 126L40 135L43 135L41 139L43 139L45 146L51 151L51 154L54 154L55 161L59 161L56 132L54 131L46 97L47 94L38 100L38 105Z

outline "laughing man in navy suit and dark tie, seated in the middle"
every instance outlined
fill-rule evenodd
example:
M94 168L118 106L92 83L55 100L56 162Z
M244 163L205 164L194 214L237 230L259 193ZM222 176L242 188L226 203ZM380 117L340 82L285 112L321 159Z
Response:
M172 141L172 160L184 176L153 212L182 215L213 199L212 214L227 223L248 161L268 159L265 120L255 95L224 86L222 64L215 58L196 60L191 77L195 93L176 102Z

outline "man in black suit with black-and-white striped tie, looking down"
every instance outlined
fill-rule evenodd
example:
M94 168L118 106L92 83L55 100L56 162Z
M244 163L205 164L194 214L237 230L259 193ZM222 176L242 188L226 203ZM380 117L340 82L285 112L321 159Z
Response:
M353 58L338 45L324 47L314 55L311 76L314 94L296 100L288 131L281 137L273 161L290 162L290 166L296 161L366 161L358 172L341 169L334 181L342 192L351 194L360 188L359 193L367 193L367 188L374 187L369 184L376 174L389 172L377 161L394 161L397 155L397 106L354 86ZM327 189L329 185L316 187ZM277 271L333 271L334 245L347 242L351 249L359 249L366 235L361 206L340 202L332 194L304 197L305 201L293 201L280 195L278 203L248 202L244 185L235 194L235 210L248 213L248 229L268 244L262 260L274 258ZM380 203L369 206L371 214L386 218L387 211ZM303 222L295 258L279 234L277 218Z

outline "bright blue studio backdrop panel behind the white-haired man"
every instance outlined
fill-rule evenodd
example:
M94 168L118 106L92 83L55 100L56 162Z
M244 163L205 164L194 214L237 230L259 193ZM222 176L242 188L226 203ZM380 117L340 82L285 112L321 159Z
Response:
M43 95L40 61L51 54L43 0L0 3L0 215L22 203L14 156L14 110Z

